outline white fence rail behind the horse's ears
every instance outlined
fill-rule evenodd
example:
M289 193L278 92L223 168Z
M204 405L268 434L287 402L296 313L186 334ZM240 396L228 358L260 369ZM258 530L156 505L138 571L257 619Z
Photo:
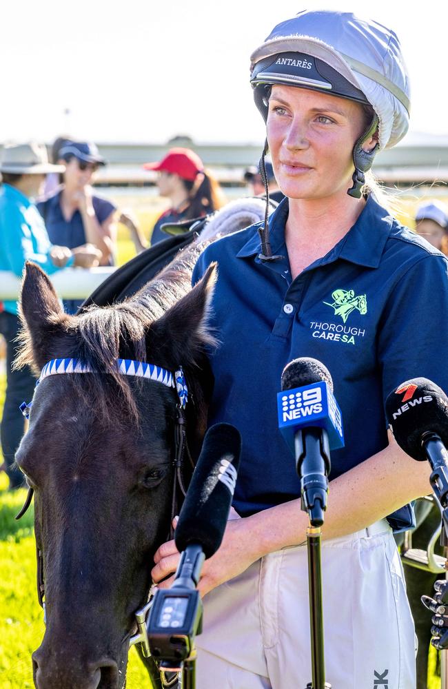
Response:
M85 299L101 285L116 267L99 268L64 268L50 276L50 280L61 299ZM0 271L0 301L14 300L19 297L21 279L9 271Z

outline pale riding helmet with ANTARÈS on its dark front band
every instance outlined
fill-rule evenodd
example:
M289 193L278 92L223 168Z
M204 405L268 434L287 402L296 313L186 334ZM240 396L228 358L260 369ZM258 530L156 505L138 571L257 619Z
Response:
M280 65L281 70L275 62L267 64L267 58L280 53L300 53L317 62L289 58L289 65ZM393 31L376 21L358 19L352 12L305 10L276 25L263 45L254 50L251 61L254 92L262 85L283 83L370 103L378 116L380 149L394 146L408 130L409 76L400 43ZM310 72L318 69L320 61L365 99L356 93L338 93L331 78L310 80ZM301 62L305 66L298 65ZM312 66L307 62L312 62ZM254 97L257 101L256 93Z

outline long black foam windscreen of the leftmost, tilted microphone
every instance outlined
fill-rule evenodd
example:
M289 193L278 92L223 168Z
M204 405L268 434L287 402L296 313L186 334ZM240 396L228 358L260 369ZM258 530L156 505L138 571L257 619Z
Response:
M241 453L241 435L235 426L216 424L205 438L174 533L181 553L200 545L212 557L223 540L234 494Z

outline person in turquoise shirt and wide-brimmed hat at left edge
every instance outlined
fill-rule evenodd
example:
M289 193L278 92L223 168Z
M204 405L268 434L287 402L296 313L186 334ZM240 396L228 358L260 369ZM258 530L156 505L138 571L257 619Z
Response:
M45 146L37 143L6 145L1 152L0 172L0 270L21 277L26 260L37 263L48 274L69 265L98 265L100 253L94 247L68 247L50 243L43 219L33 199L39 196L45 174L63 172L63 165L48 163ZM12 371L16 356L19 317L17 301L0 302L0 333L6 340L6 397L0 426L1 449L10 489L23 483L23 474L13 466L25 420L19 405L32 398L35 378L30 369Z

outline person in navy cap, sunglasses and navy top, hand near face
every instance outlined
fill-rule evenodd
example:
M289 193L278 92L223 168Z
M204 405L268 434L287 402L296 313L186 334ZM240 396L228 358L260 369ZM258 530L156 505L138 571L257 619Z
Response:
M63 184L38 204L50 240L72 249L85 243L101 251L99 265L114 265L116 255L116 207L93 193L94 174L105 165L94 143L67 141L59 150L65 165ZM75 313L82 300L65 300L68 313Z

